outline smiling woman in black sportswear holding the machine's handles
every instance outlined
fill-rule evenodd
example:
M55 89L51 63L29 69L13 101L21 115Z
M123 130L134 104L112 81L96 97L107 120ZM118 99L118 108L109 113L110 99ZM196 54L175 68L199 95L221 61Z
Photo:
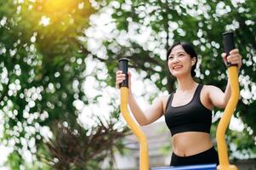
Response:
M222 54L225 63L242 65L238 49L230 55ZM147 110L142 111L129 88L128 105L139 125L155 122L165 116L165 122L172 133L173 154L171 166L193 164L219 164L218 153L210 138L212 110L216 106L225 108L230 98L230 82L225 93L212 85L202 85L194 81L197 55L188 42L175 42L168 49L168 69L177 78L177 89L169 96L160 96ZM131 87L131 72L128 82ZM117 88L125 79L122 71L117 71Z

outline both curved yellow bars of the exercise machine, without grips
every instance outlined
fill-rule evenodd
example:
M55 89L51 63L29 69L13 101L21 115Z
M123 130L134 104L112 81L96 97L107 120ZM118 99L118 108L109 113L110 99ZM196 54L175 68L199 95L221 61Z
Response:
M225 143L225 132L230 123L230 119L234 111L236 110L236 105L239 99L239 83L238 83L238 69L236 65L231 65L228 68L230 85L231 85L231 96L230 100L225 108L224 115L222 116L219 126L217 128L217 144L219 152L219 166L218 170L237 170L237 167L230 165L227 146ZM121 88L121 112L128 126L132 129L133 133L139 139L140 146L140 160L139 160L139 170L149 169L149 156L148 156L148 144L146 141L145 133L141 130L139 125L134 122L134 119L130 116L128 112L128 88Z

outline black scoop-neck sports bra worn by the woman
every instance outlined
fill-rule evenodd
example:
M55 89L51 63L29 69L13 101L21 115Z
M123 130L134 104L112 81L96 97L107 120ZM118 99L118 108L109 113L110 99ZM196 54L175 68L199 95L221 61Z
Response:
M177 107L172 106L174 93L170 94L165 113L165 122L172 136L183 132L205 132L210 133L212 124L212 111L208 110L200 100L202 84L196 88L191 102Z

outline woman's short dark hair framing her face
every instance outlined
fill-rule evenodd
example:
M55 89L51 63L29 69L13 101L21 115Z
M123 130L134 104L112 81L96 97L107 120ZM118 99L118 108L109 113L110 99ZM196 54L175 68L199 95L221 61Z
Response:
M167 52L167 62L168 62L168 57L169 57L169 54L171 54L172 50L174 47L176 47L177 45L181 45L182 48L184 48L185 52L187 54L190 54L191 55L191 58L193 57L196 57L196 63L197 63L197 54L196 54L196 51L195 49L193 48L193 46L191 45L191 43L189 42L174 42L174 44L168 48L168 52ZM191 77L195 77L196 76L196 63L195 65L192 66L191 68Z

